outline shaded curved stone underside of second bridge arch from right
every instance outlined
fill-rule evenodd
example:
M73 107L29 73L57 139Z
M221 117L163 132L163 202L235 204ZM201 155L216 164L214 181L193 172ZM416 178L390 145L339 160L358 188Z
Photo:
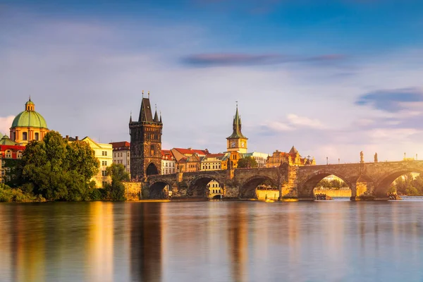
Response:
M353 197L357 195L357 190L355 185L353 185L353 180L350 180L350 178L344 176L343 173L339 173L338 171L323 169L321 171L314 171L314 173L309 174L298 184L298 198L314 200L314 188L316 188L317 183L328 176L337 176L338 178L341 178L341 180L348 185L348 188L350 188Z

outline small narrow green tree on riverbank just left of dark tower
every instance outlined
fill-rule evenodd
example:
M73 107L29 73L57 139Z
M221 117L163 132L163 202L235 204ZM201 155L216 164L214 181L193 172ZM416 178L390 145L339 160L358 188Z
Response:
M126 172L123 164L111 164L106 168L106 174L111 176L111 184L106 185L107 197L109 200L125 200L125 186L123 181L129 180L129 173Z

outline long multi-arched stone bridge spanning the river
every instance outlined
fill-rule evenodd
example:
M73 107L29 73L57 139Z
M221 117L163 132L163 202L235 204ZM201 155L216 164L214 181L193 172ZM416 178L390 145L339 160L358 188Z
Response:
M314 200L313 190L326 176L338 176L351 189L351 200L388 200L393 180L405 173L423 173L423 161L386 161L359 164L237 168L149 176L142 183L142 197L206 200L207 183L216 180L226 199L254 199L257 185L265 180L279 189L281 200Z

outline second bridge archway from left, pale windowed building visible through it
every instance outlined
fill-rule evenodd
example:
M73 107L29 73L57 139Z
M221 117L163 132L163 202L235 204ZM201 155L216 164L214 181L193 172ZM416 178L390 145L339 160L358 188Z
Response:
M204 176L193 180L190 184L190 187L188 188L187 193L187 196L190 198L204 200L212 199L218 195L220 198L224 197L224 187L218 180L209 176Z

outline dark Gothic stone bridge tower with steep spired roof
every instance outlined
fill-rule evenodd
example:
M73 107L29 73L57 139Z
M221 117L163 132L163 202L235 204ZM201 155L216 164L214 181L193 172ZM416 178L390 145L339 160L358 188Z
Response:
M148 98L142 102L138 121L129 121L130 134L130 177L141 180L145 176L160 174L161 171L161 130L163 123L157 115L152 115L152 106Z

